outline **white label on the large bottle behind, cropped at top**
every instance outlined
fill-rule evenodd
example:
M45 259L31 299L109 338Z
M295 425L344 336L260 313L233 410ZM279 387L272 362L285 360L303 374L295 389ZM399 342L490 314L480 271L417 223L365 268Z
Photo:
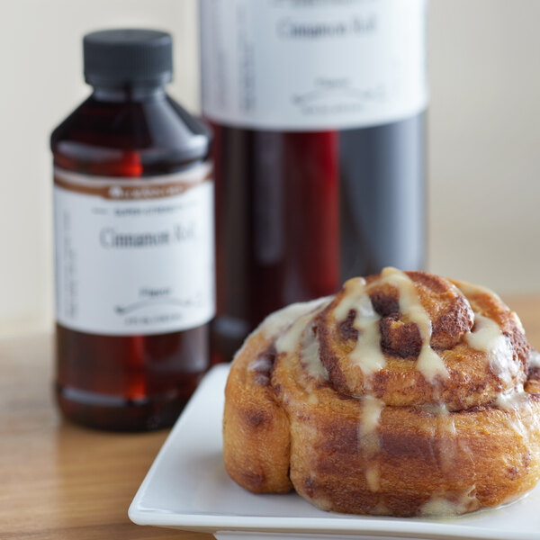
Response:
M328 130L422 111L427 0L201 0L202 111Z

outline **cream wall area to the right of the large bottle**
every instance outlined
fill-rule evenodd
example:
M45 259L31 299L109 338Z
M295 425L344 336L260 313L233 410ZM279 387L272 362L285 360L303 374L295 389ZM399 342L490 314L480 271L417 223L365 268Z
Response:
M429 269L540 291L538 0L433 0Z

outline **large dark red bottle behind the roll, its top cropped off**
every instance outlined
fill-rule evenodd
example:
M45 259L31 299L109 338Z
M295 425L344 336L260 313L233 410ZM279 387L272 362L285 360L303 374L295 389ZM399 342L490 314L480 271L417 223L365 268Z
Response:
M287 303L424 265L426 0L201 0L216 355Z

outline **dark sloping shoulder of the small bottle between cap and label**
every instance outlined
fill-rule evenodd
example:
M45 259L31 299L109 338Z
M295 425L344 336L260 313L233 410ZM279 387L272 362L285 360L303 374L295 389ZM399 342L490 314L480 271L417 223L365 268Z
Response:
M50 147L57 166L94 171L127 158L145 175L206 159L210 140L210 128L166 94L125 102L91 95L53 130Z

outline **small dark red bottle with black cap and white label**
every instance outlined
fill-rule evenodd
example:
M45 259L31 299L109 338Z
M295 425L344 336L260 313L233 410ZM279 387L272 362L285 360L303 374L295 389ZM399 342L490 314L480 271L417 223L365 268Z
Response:
M171 425L209 366L209 130L165 91L169 34L85 36L92 94L51 136L57 396L96 428Z

